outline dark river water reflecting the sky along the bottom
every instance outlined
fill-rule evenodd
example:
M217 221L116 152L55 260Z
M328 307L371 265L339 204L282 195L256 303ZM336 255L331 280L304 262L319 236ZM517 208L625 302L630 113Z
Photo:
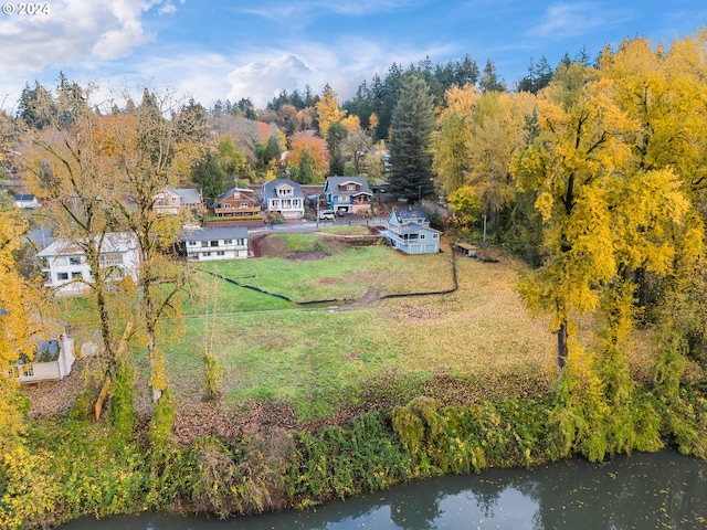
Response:
M213 521L144 515L62 530L704 529L707 463L675 451L445 476L307 511Z

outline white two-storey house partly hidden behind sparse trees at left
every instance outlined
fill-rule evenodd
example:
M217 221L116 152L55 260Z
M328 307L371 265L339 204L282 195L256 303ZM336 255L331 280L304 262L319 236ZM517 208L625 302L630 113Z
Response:
M55 240L36 257L46 276L44 285L55 288L57 295L81 295L93 282L85 253L76 243ZM137 279L140 254L135 236L125 232L105 234L101 246L101 264L113 267L110 279L114 282L125 277Z

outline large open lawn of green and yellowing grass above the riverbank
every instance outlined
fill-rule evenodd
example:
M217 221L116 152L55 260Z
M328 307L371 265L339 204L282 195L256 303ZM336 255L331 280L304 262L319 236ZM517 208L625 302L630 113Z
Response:
M371 246L310 262L260 258L209 268L306 300L357 298L370 289L449 288L449 254L403 256ZM217 315L212 351L224 367L224 401L283 400L306 418L365 402L373 392L371 382L384 385L390 377L416 381L414 392L440 377L476 382L478 399L485 392L513 392L530 380L530 388L545 384L553 374L553 341L547 322L530 319L513 289L517 266L509 259L457 259L460 288L449 295L392 298L346 310L273 306L264 312ZM245 290L232 293L238 299ZM219 296L219 307L226 307L229 295ZM230 307L236 306L232 301ZM204 319L194 314L169 356L178 393L199 392L203 336Z

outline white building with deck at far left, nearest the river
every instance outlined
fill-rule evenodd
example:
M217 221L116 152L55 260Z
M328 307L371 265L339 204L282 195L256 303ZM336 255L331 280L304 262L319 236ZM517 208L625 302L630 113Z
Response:
M18 361L18 379L21 383L61 381L71 373L75 360L74 339L61 333L57 339L40 341L31 362Z

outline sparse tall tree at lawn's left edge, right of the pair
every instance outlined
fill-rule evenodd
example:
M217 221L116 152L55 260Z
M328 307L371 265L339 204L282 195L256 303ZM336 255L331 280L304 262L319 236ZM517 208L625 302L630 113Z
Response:
M115 186L134 199L130 205L118 201L115 208L120 224L136 237L140 252L137 307L150 365L152 401L160 405L156 406L154 425L161 422L165 411L171 410L169 400L161 404L169 384L158 333L168 317L179 321L189 274L167 255L177 239L180 219L158 213L152 205L158 192L173 186L180 168L190 167L205 147L200 141L205 125L199 116L182 112L167 119L168 108L179 108L171 94L146 89L141 104L128 116L133 126L112 131L117 160Z

